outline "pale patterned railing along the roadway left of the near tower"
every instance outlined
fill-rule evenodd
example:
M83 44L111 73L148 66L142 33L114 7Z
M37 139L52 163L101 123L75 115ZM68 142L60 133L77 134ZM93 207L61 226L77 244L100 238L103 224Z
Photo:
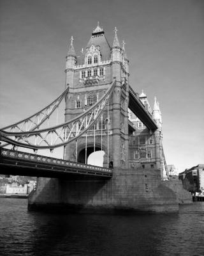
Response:
M62 165L62 166L68 166L73 168L80 168L80 169L86 169L86 170L94 170L98 172L106 172L106 173L112 173L111 169L100 167L100 166L94 166L91 164L84 164L84 163L78 163L73 161L68 161L64 159L58 159L54 157L47 157L47 156L40 156L36 154L31 154L27 152L21 152L21 151L15 151L10 150L7 148L1 148L1 156L3 157L11 157L15 159L24 159L24 161L36 161L40 163L47 163L47 164L53 164L53 165Z

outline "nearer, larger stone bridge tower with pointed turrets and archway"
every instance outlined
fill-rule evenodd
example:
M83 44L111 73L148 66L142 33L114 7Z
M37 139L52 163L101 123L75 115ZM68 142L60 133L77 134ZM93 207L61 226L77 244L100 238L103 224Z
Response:
M113 44L106 40L103 28L93 30L85 50L77 56L73 38L66 56L65 121L75 118L97 102L115 81L112 97L100 120L77 141L64 148L64 157L87 163L97 150L105 152L103 166L128 167L128 65L124 42L120 47L115 28Z

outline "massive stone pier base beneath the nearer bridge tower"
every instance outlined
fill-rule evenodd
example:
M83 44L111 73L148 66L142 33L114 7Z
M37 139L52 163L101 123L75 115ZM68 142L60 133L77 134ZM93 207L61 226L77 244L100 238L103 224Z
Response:
M110 180L38 178L28 201L31 211L89 213L179 211L177 195L162 181L159 170L113 169Z

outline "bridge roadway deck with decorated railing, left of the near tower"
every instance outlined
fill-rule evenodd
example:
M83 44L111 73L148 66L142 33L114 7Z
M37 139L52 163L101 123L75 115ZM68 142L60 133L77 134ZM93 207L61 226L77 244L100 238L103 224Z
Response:
M66 180L105 180L112 170L0 147L0 173Z

